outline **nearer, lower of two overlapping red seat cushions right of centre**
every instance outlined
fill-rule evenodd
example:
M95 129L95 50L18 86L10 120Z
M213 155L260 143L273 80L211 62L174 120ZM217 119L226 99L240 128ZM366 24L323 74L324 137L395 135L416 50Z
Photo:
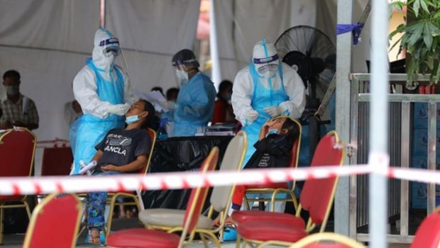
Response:
M280 240L297 242L309 235L304 229L290 225L290 223L273 221L247 221L237 226L238 235L244 239L260 241Z

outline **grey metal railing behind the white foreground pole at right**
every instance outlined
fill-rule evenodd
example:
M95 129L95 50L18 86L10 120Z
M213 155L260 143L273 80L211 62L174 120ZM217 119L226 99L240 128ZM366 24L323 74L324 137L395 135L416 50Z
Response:
M405 85L407 74L389 74L390 84ZM368 93L370 74L351 74L351 143L357 144L350 164L368 163L369 142L369 103ZM429 83L429 75L419 75L419 84ZM402 87L402 86L400 86ZM399 91L399 87L397 87ZM400 88L402 89L402 88ZM389 154L391 167L409 167L412 137L412 103L428 103L428 151L427 169L436 169L436 108L440 95L422 94L389 94L390 128ZM350 179L350 235L359 241L369 241L368 230L360 232L361 227L368 225L368 176L351 176ZM435 208L435 185L428 185L427 213ZM388 242L410 243L414 236L408 234L409 227L409 182L390 180L388 182L388 217L390 222L397 221L399 235L387 235Z

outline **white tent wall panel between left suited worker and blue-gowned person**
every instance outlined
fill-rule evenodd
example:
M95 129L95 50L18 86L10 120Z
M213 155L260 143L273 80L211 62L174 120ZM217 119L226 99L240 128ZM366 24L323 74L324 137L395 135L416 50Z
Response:
M119 38L135 93L178 86L171 58L192 49L199 6L200 0L106 1L106 28Z

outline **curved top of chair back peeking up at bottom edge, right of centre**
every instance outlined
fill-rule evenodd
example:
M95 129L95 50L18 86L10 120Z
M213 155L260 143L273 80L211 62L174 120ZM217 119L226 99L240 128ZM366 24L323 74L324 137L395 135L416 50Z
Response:
M365 246L337 233L320 232L304 237L289 248L365 248Z

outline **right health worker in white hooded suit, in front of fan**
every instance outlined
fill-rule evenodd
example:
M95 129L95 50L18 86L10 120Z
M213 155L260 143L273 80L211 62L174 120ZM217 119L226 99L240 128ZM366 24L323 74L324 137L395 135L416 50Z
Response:
M236 119L248 134L248 150L243 165L255 152L260 128L277 115L299 118L305 107L301 77L280 62L273 43L260 40L253 47L249 65L241 69L233 83L232 107Z

